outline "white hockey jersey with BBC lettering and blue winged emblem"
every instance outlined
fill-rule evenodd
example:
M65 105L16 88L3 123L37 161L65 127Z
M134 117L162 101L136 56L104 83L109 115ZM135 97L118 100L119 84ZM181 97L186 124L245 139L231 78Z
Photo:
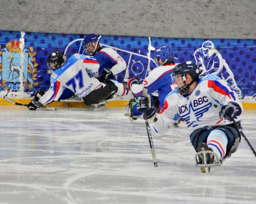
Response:
M168 94L162 113L157 115L157 122L151 126L160 132L180 117L185 120L190 132L205 126L230 124L230 121L220 119L219 110L213 105L223 106L231 101L239 104L243 110L238 95L224 80L215 75L207 75L199 79L189 95L181 95L177 90ZM236 120L240 120L240 117Z

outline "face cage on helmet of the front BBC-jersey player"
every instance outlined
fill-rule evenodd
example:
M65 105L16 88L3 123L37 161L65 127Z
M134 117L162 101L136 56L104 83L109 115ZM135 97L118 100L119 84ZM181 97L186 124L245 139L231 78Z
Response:
M180 75L172 74L172 90L177 90L181 95L188 94L188 83L186 82L186 75L184 73Z

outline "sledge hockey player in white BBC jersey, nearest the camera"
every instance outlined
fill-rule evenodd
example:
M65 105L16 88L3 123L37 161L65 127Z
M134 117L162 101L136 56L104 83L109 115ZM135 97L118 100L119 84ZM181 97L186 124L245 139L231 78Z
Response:
M145 96L138 98L137 109L148 109L148 121L156 132L171 127L177 118L184 119L191 132L190 141L198 152L196 165L203 173L209 173L209 167L220 165L223 157L237 150L241 136L231 118L240 126L243 106L236 92L220 77L199 75L194 62L177 64L172 73L175 89L164 100L163 111L156 114L154 108L148 109ZM221 110L214 105L221 106Z

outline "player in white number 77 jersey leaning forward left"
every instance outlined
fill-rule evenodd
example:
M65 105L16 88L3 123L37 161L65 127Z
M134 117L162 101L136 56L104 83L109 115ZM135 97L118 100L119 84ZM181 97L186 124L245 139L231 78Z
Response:
M107 99L117 91L113 82L100 82L89 75L100 67L99 62L91 56L73 54L66 61L63 53L54 50L48 56L47 66L54 71L51 75L51 87L42 97L42 94L36 95L28 105L29 110L70 98L67 96L69 93L76 94L86 105L91 105Z

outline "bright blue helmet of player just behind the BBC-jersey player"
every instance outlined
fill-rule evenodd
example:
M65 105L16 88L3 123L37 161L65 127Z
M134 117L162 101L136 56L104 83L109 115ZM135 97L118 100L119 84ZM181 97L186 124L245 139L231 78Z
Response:
M163 64L166 63L167 61L171 60L173 61L173 51L170 46L162 46L159 48L156 48L155 54L154 54L154 60L160 66L159 64L159 58L161 58Z

